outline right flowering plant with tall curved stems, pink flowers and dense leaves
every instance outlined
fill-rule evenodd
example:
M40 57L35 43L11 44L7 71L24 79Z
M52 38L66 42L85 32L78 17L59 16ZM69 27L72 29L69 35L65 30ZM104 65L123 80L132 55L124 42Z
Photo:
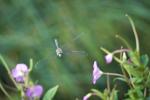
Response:
M107 88L104 91L99 91L97 89L91 89L91 92L83 97L83 100L88 100L91 96L98 96L102 100L149 100L150 99L150 69L148 67L149 58L147 55L140 54L140 46L138 35L130 16L126 15L131 23L135 40L136 40L136 50L132 49L129 44L120 36L117 38L123 40L127 45L127 49L121 48L120 50L115 50L114 52L109 52L105 48L101 47L107 55L104 57L107 64L110 64L113 59L117 61L122 70L122 74L118 73L106 73L99 69L97 62L94 61L93 64L93 84L102 76L107 76ZM116 54L119 53L118 57ZM112 89L110 88L110 76L116 76L117 80L123 81L128 85L127 93L124 97L119 98L119 91L116 89L115 85ZM115 80L116 80L115 79Z

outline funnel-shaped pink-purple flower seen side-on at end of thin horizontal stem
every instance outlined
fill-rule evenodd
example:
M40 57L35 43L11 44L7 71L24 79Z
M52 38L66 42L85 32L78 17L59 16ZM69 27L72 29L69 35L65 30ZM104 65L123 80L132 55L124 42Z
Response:
M94 61L93 64L93 84L96 84L96 81L101 77L103 72L98 68L97 62Z

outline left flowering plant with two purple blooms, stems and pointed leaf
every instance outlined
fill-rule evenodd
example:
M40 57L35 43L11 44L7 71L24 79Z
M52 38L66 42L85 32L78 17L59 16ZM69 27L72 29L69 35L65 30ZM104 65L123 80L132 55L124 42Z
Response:
M41 98L44 92L43 86L40 84L35 84L29 76L29 73L32 71L33 67L32 59L30 59L30 68L28 68L26 64L21 63L17 64L16 67L13 68L11 71L1 55L0 60L4 64L10 79L17 88L17 91L20 92L21 100L39 100ZM1 83L0 89L4 92L4 94L8 97L9 100L14 100L11 97L11 95L9 95L9 93L5 90ZM50 88L43 96L43 100L51 100L54 97L57 89L58 85L53 88Z

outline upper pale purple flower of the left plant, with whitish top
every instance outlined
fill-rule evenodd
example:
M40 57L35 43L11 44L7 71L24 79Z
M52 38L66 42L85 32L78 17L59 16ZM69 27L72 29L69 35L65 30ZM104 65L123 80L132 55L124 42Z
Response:
M23 83L25 77L28 75L29 69L25 64L17 64L14 69L12 69L11 74L16 82Z

